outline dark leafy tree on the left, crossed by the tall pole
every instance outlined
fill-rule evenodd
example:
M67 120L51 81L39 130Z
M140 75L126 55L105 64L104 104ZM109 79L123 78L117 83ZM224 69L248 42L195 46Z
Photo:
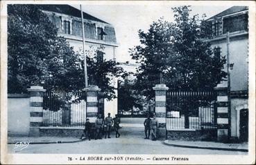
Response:
M88 50L88 77L98 85L103 97L114 98L112 77L121 75L115 61L97 61L103 48ZM31 85L43 85L53 93L70 93L85 87L83 56L74 52L66 39L36 5L8 5L8 93L26 93ZM60 97L58 97L60 99Z

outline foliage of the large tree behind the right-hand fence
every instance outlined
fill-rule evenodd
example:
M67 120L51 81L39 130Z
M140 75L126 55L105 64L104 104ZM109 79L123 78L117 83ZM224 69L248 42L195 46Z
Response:
M212 89L226 76L225 57L213 55L211 28L198 15L189 17L189 6L172 8L173 22L154 21L148 32L139 30L141 45L130 55L141 64L137 70L138 93L154 97L155 84L167 84L173 90Z

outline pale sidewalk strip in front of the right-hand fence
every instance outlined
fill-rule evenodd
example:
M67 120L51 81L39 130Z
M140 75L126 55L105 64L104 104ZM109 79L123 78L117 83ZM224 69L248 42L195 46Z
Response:
M220 142L200 142L200 141L181 141L181 140L165 140L163 144L167 146L176 146L182 148L201 148L210 150L223 151L241 151L248 152L248 144L224 144Z

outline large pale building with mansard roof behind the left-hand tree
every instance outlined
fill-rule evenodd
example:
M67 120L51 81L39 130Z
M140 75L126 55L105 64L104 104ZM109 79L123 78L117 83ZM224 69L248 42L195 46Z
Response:
M51 22L58 28L58 35L65 37L70 46L77 52L83 51L83 31L80 10L69 5L40 5L42 12L48 15ZM83 12L85 27L85 49L95 50L103 46L103 59L115 60L117 39L114 27L101 19ZM112 86L117 87L117 79L113 78ZM104 115L117 113L117 99L104 101Z

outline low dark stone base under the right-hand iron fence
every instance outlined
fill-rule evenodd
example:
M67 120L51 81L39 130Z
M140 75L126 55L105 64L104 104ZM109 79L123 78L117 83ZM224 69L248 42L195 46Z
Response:
M216 142L217 133L216 130L167 130L167 139Z

